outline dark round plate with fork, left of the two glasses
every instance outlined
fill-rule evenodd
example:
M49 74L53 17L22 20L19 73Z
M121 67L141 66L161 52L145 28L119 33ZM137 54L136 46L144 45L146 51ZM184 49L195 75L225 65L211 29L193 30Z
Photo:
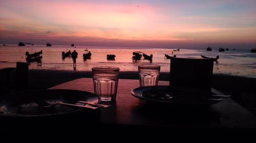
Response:
M81 108L59 104L55 105L51 109L41 108L34 102L36 98L41 98L51 104L56 102L74 104L76 101L88 101L92 103L100 102L100 97L98 95L77 90L39 90L19 92L1 98L0 116L52 116L81 110ZM76 104L83 105L82 103Z

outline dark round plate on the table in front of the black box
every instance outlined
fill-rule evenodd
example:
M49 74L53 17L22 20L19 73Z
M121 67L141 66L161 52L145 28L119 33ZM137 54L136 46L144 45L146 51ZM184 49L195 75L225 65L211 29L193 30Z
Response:
M177 105L209 105L223 100L220 97L212 96L214 94L211 92L199 89L160 85L135 88L131 94L147 101Z

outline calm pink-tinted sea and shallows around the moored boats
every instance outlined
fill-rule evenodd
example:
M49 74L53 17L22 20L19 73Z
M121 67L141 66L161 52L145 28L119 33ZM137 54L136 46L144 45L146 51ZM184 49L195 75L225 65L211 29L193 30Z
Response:
M84 49L88 48L92 56L90 60L84 61L82 54ZM0 47L0 69L7 67L16 67L16 62L26 62L25 52L34 53L42 50L42 65L37 66L36 62L30 64L29 69L44 70L74 70L72 58L61 59L62 51L78 52L77 71L91 71L95 66L115 66L120 71L138 71L139 64L151 63L148 60L132 60L133 51L141 51L148 55L153 54L152 64L161 65L161 72L169 72L170 60L165 59L164 54L172 55L173 49L160 48L138 48L138 47L96 47L96 46L52 46L29 45L17 46L6 45ZM106 54L115 54L115 60L106 60ZM218 48L212 51L205 49L180 49L174 51L177 57L182 58L201 58L201 55L216 58L220 56L218 63L214 63L214 74L228 74L244 77L256 78L256 53L250 52L250 49L236 49L219 52Z

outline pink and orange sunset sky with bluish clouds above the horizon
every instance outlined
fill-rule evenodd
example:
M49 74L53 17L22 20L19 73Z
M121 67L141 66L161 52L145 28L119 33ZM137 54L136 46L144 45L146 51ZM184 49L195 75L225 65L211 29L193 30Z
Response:
M0 0L0 43L256 46L256 1Z

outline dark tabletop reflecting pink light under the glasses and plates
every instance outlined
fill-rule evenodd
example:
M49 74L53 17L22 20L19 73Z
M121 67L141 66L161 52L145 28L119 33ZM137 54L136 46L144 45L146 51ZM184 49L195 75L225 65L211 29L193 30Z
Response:
M159 81L159 85L168 85ZM230 98L207 106L174 106L138 99L131 90L139 80L119 79L113 106L100 108L101 124L200 129L256 129L256 117ZM50 89L94 92L92 78L79 78ZM212 89L212 92L221 94Z

